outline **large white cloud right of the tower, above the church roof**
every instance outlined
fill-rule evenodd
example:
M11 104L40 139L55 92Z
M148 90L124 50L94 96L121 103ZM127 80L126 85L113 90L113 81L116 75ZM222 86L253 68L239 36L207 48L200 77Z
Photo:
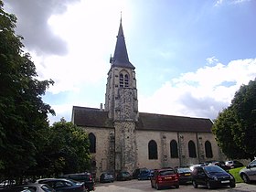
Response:
M239 72L238 72L239 71ZM242 84L256 77L256 59L218 63L166 81L151 96L139 95L142 112L188 115L214 119L228 107Z

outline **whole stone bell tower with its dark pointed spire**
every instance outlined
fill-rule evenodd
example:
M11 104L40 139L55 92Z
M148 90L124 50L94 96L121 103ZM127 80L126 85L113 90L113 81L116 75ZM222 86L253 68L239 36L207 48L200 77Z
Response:
M115 170L132 171L136 165L135 123L139 112L135 68L128 58L122 18L110 63L105 111L115 127Z

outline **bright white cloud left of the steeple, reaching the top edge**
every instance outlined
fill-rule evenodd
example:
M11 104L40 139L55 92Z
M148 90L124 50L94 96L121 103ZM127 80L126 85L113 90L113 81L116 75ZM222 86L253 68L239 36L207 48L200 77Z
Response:
M105 80L110 67L107 61L116 40L113 34L117 34L120 22L116 16L121 16L121 7L123 2L117 0L83 0L80 4L67 5L65 13L48 17L53 35L63 39L68 48L66 56L29 50L39 78L55 81L48 92L80 91L83 86ZM129 16L125 18L125 24L128 23Z

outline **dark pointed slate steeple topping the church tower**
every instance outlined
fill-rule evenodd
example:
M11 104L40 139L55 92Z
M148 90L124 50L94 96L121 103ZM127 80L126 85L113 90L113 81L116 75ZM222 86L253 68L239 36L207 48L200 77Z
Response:
M120 26L118 30L114 55L110 61L112 65L116 67L135 69L133 67L133 64L129 61L129 58L128 58L127 48L126 48L125 40L123 36L122 17L120 19Z

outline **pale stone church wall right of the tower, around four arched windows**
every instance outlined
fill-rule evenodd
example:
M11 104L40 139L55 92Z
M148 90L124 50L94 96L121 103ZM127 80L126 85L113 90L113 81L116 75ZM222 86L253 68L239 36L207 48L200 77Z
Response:
M208 160L225 160L225 155L219 151L219 147L212 133L176 133L176 132L154 132L136 131L137 140L137 164L136 167L161 168L166 166L194 165ZM148 158L148 143L154 140L157 144L158 159ZM171 158L170 142L176 140L178 143L178 158ZM196 158L188 155L188 142L196 144ZM205 142L208 141L212 147L212 158L205 156Z

